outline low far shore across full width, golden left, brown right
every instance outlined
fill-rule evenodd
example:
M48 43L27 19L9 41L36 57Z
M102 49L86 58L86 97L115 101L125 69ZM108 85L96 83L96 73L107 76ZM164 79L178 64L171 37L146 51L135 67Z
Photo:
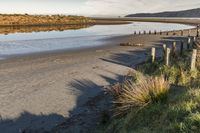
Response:
M0 14L0 27L10 26L72 26L129 24L131 22L162 22L196 25L200 19L190 18L148 18L148 17L84 17L65 15Z

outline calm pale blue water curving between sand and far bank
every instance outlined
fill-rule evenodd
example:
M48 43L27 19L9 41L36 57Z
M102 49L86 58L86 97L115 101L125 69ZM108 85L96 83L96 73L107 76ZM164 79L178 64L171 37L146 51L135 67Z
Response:
M167 31L189 28L194 27L182 24L134 22L126 25L95 25L75 29L51 28L51 30L33 29L32 31L26 29L23 30L23 33L13 33L7 29L6 33L0 32L2 33L0 34L0 58L18 54L100 46L105 44L106 38L133 34L134 31ZM20 30L15 32L20 32Z

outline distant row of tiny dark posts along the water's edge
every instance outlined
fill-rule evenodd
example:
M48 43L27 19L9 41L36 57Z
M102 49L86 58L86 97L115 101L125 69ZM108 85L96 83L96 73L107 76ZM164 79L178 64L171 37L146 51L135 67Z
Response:
M171 32L171 31L170 31L170 32ZM187 32L187 35L188 35L188 36L191 35L191 30L188 30L188 31L186 31L186 32ZM180 33L180 35L183 36L183 35L184 35L184 30L173 31L173 32L172 32L173 35L176 35L176 34L178 34L178 33ZM146 34L149 34L149 35L151 35L151 34L154 34L154 35L163 35L163 34L169 35L169 31L162 32L162 31L156 31L156 30L154 30L154 31L152 32L151 30L149 30L148 32L147 32L147 31L143 31L143 32L139 31L138 33L137 33L136 31L134 31L134 35L142 35L142 34L143 34L143 35L146 35Z

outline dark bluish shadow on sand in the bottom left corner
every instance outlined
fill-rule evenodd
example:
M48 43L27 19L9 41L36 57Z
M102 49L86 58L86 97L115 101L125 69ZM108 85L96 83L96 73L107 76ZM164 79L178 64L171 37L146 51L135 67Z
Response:
M58 114L34 115L24 112L16 119L0 120L0 132L45 133L64 120L65 118Z

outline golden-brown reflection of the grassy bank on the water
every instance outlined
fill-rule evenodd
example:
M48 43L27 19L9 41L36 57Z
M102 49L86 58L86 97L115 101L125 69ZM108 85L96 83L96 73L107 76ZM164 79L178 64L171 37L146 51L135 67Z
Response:
M13 33L78 30L87 27L90 27L90 25L6 26L6 27L0 27L0 34L8 35Z

